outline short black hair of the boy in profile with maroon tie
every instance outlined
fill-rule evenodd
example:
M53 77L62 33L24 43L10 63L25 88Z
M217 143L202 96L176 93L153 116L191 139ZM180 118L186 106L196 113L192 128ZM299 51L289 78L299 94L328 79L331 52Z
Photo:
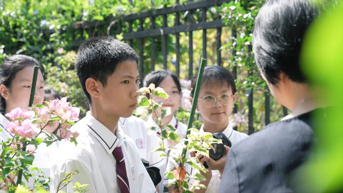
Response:
M108 77L120 63L127 60L138 63L136 52L129 45L111 36L92 38L80 46L76 58L76 72L89 103L91 97L86 90L86 80L94 78L106 86Z

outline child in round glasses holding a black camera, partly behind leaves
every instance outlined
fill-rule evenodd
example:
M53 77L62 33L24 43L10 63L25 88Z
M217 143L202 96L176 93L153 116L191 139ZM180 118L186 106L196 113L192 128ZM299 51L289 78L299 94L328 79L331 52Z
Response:
M197 76L194 75L192 79L192 93L194 94ZM240 140L248 137L245 133L240 133L233 130L229 116L232 113L233 105L237 100L236 86L232 74L220 66L205 67L204 75L199 92L197 110L202 117L203 125L200 132L217 133L222 132L232 143L237 144ZM177 145L179 146L179 145ZM170 154L181 154L182 148L172 149ZM208 171L203 173L206 177L204 181L192 181L191 184L204 184L206 189L195 189L194 192L217 192L220 184L220 173L224 170L226 162L226 155L229 152L229 147L225 146L226 153L218 160L214 160L208 156L199 155L198 158L204 164L206 161L209 166ZM187 156L192 156L193 153L188 152ZM169 159L167 163L167 170L171 170L177 166L173 159ZM186 171L190 175L196 173L196 169L190 165L186 165ZM168 183L167 180L164 181ZM172 192L174 185L169 187L169 192Z

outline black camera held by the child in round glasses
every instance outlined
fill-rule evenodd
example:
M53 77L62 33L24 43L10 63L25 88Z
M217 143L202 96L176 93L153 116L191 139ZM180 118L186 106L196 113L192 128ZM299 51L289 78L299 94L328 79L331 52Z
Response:
M222 132L213 133L212 135L213 135L213 138L222 140L222 143L212 144L214 149L209 149L209 156L214 160L218 160L225 155L224 145L231 147L232 144L231 144L231 141ZM204 163L204 166L205 168L209 168L206 162Z

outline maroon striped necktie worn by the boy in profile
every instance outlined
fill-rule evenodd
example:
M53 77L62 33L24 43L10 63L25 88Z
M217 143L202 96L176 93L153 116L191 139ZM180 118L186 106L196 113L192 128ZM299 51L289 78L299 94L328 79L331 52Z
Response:
M120 188L120 193L129 193L129 182L127 179L126 174L126 168L125 168L125 160L123 151L121 150L121 147L116 147L112 151L112 154L114 155L116 159L116 172L117 172L117 181Z

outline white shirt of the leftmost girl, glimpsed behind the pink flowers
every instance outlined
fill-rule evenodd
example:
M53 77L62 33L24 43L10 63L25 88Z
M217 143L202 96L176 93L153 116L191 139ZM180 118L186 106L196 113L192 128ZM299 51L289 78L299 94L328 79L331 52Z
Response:
M9 122L10 121L3 114L0 113L0 127L3 129L3 131L0 133L0 140L2 142L7 141L9 138L10 140L12 140L14 136L13 134L9 133L9 131L5 129L5 125L7 125ZM36 132L38 133L39 130L36 130ZM43 131L43 133L41 133L39 137L42 139L45 139L47 135L48 134ZM33 154L35 156L33 165L37 166L41 171L43 171L44 175L47 177L50 176L50 167L52 166L52 163L54 162L56 158L55 156L57 153L57 148L58 148L58 142L54 142L49 146L46 146L46 143L41 143L40 145L38 145L35 153ZM33 171L33 174L38 175L36 171ZM29 187L33 187L33 183L35 179L36 179L35 176L30 177L29 181L26 181L25 178L23 178L23 180L26 181Z

